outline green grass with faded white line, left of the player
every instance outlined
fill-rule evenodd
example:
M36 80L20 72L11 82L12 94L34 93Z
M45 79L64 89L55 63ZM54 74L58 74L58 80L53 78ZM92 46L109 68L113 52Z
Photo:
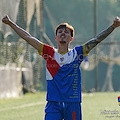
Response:
M0 120L43 120L45 92L0 100Z

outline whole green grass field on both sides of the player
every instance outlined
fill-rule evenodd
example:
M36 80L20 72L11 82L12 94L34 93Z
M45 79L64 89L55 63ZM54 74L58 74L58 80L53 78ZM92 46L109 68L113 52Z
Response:
M120 120L120 92L83 93L83 120ZM0 120L44 120L46 92L0 100Z

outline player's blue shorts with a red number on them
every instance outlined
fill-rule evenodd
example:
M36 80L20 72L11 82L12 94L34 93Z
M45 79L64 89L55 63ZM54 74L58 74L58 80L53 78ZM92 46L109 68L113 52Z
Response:
M82 120L81 103L48 102L45 107L45 120Z

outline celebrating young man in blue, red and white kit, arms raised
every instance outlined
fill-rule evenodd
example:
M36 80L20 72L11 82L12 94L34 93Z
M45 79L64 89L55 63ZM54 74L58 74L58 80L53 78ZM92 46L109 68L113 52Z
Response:
M69 44L74 37L74 28L68 23L62 23L56 28L55 49L31 36L8 16L5 16L2 22L37 49L46 60L48 102L45 107L45 120L82 120L80 64L91 49L120 26L120 18L116 17L113 24L97 37L73 49L69 49Z

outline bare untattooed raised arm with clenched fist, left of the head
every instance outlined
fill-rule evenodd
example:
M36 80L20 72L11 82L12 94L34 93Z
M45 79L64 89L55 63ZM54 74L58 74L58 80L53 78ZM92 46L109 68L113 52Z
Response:
M2 22L9 25L21 38L27 41L38 51L40 50L41 42L35 37L31 36L27 31L19 27L17 24L15 24L12 20L10 20L8 15L3 17Z

